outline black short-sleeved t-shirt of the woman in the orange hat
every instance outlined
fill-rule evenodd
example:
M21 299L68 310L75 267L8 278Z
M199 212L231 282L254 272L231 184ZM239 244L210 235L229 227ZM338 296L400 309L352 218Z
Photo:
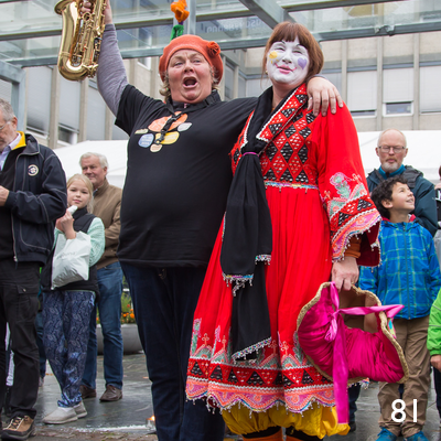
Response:
M186 107L187 114L171 127L163 143L155 144L173 115L170 105L133 86L125 88L116 121L130 136L118 248L121 261L207 265L232 181L228 153L255 104L254 98L224 103L213 92L203 104Z

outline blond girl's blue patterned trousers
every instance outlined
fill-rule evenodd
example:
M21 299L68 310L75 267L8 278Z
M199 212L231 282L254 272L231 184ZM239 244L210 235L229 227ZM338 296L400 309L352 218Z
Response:
M58 381L61 407L82 401L79 386L86 363L88 323L95 292L51 291L44 293L43 343L52 372Z

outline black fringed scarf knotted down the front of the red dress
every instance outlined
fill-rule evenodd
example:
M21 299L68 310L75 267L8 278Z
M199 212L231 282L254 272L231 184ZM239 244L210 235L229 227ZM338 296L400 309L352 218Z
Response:
M259 154L272 140L259 133L295 90L291 90L276 109L272 109L272 87L260 95L244 133L241 158L228 193L220 267L224 279L233 286L229 338L234 361L256 359L271 343L265 263L271 260L272 227ZM306 98L302 95L297 110L306 104ZM295 115L297 111L292 111L286 123ZM286 123L272 126L272 139Z

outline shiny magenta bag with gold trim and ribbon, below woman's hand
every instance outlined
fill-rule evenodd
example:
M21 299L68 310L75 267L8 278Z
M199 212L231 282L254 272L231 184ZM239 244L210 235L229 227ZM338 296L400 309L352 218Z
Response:
M299 343L316 369L334 381L340 423L348 422L348 384L367 377L387 383L408 378L391 324L402 308L383 306L374 293L355 287L338 293L333 282L323 283L302 308L297 323ZM368 327L370 332L365 331Z

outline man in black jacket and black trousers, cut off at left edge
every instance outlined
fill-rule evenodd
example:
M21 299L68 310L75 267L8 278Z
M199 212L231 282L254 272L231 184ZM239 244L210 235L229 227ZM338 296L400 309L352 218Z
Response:
M40 268L53 247L55 220L66 206L66 179L58 158L32 136L17 131L11 105L0 99L0 404L6 391L7 324L14 354L12 416L1 433L3 440L35 434Z

